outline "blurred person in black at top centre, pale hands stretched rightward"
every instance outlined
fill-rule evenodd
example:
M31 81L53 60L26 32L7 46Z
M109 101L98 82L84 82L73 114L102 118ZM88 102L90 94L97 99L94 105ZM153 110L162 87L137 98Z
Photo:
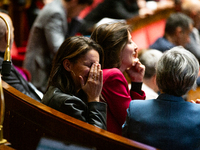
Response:
M144 17L153 14L155 9L172 7L173 5L172 0L160 2L154 0L103 0L84 17L80 33L90 35L94 25L103 18L130 19L136 16Z

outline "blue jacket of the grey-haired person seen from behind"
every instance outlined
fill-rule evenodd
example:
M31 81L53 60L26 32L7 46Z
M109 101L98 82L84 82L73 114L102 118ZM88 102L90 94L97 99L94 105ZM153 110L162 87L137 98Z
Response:
M199 150L200 105L168 94L133 100L123 136L162 150Z

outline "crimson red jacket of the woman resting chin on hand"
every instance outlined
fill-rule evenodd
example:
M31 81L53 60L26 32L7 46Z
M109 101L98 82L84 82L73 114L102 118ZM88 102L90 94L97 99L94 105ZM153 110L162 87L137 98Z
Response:
M145 99L142 95L130 91L123 73L117 69L103 69L102 95L107 103L107 130L122 135L122 125L126 120L126 109L132 99ZM103 101L103 100L101 100Z

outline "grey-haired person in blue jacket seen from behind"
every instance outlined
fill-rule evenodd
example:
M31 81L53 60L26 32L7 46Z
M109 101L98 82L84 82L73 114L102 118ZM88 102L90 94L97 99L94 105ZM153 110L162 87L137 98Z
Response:
M199 150L200 105L182 96L196 84L199 62L183 47L166 51L156 67L157 99L132 100L123 136L162 150Z

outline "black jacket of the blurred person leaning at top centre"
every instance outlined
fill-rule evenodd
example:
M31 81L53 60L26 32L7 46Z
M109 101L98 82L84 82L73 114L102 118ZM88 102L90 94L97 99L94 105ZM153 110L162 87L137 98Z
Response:
M90 34L88 30L101 19L129 19L137 16L138 10L136 0L104 0L84 18L80 32Z

